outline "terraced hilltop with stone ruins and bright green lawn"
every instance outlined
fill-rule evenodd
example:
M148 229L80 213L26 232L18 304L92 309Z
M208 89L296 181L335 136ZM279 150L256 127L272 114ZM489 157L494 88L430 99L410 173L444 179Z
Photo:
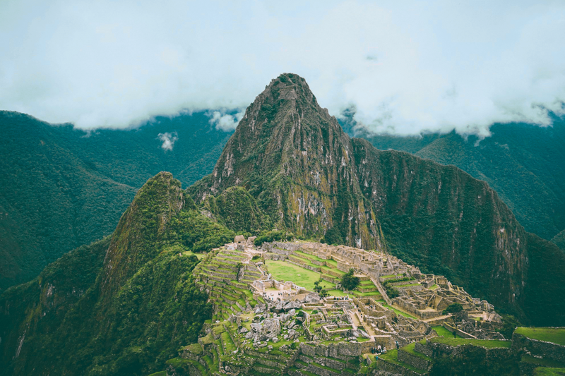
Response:
M347 291L343 277L350 269L359 284ZM421 274L396 257L345 246L295 241L263 243L258 248L254 238L237 236L234 243L203 257L194 276L196 286L208 293L213 317L205 322L197 343L184 346L177 358L167 361L167 375L377 372L381 364L388 365L376 362L374 353L381 348L388 348L390 357L395 344L413 347L415 341L425 343L438 332L456 330L449 324L451 315L441 311L420 307L425 314L409 312L406 302L422 296L422 291L436 291L432 305L461 301L470 322L484 318L484 329L473 332L476 335L493 335L486 328L496 324L490 320L496 314L481 310L492 306L465 301L464 293L444 277ZM391 283L400 296L388 297ZM427 315L426 320L422 315ZM464 323L457 339L464 335L480 341L461 331Z

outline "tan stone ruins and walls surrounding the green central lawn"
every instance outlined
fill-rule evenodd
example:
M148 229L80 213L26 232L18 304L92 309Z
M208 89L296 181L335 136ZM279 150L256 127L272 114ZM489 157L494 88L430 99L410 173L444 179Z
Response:
M336 284L344 272L354 269L364 281L359 290L372 296L321 298L292 280L274 279L263 262L254 260L256 255L267 263L283 260L317 272L317 267L324 267L327 274L323 278ZM308 265L300 261L304 255L312 257ZM431 339L437 336L432 326L439 325L468 338L501 336L495 331L500 317L487 301L472 298L444 276L422 274L417 267L383 252L305 241L256 247L254 238L237 236L233 243L213 250L207 259L195 269L197 285L210 294L215 315L237 327L230 337L249 356L260 349L270 351L279 341L300 341L302 349L305 340L316 346L347 344L343 351L355 357L376 346L390 349ZM333 273L333 269L341 273ZM245 289L249 295L239 292ZM389 298L390 289L396 289L398 296ZM245 297L246 303L239 303L237 296ZM251 306L248 296L263 303ZM460 303L465 313L457 328L451 316L442 313L453 303ZM237 307L230 309L230 305ZM220 323L215 321L215 325ZM292 352L287 345L283 350ZM234 363L231 366L235 367Z

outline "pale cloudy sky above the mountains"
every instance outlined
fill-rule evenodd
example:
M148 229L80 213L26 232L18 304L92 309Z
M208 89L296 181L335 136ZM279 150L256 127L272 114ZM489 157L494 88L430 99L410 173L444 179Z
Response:
M487 136L565 114L564 35L565 1L2 0L0 109L83 129L206 110L230 131L296 73L375 133Z

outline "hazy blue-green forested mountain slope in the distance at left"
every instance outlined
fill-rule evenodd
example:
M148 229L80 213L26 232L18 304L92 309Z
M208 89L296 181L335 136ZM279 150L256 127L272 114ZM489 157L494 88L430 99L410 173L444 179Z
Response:
M0 291L111 234L157 172L172 171L189 185L212 171L230 133L208 120L183 114L88 133L0 111ZM164 133L177 137L172 150L161 148Z

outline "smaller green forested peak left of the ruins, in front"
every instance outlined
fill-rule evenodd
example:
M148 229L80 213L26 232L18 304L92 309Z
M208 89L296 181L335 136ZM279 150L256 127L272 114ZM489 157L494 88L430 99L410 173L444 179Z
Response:
M112 236L0 296L0 375L162 369L211 317L208 296L194 284L192 250L233 237L196 210L171 174L150 178Z

